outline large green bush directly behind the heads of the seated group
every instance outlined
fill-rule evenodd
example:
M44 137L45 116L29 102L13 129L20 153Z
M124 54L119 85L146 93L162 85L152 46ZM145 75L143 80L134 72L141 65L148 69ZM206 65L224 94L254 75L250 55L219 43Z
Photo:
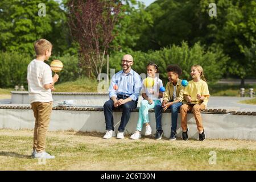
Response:
M180 78L191 80L190 70L193 64L200 64L204 69L207 81L216 81L222 77L225 71L225 63L229 57L225 56L220 50L216 52L207 51L204 46L196 43L191 48L183 42L181 46L171 46L159 51L144 53L141 51L131 51L134 57L133 69L139 74L146 74L146 65L151 61L159 66L160 78L167 82L166 68L169 64L178 64L183 69ZM115 72L121 70L122 52L110 55L109 67L114 68ZM221 64L220 64L221 63Z

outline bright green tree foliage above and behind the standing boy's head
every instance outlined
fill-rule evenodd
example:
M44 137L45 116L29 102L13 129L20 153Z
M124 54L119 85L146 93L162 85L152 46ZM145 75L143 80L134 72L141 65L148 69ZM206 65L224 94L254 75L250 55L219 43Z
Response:
M0 49L34 55L33 43L48 39L60 54L68 47L68 26L64 10L53 0L44 1L46 16L38 16L40 0L0 1Z

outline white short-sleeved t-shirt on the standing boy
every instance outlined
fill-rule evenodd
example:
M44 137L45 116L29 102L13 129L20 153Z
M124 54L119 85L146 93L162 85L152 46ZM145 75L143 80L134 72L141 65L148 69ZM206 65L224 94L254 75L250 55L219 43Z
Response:
M28 96L32 102L51 102L51 89L45 89L45 84L51 84L52 70L49 65L39 60L32 60L27 67Z

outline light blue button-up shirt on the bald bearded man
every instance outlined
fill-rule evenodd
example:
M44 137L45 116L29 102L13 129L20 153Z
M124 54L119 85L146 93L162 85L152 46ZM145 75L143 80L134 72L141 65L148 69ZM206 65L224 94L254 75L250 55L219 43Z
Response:
M117 90L114 90L114 85L118 86ZM123 71L115 73L111 79L109 86L109 98L117 97L117 95L130 96L133 101L139 98L139 93L141 91L142 83L141 76L138 73L130 70L130 72L125 75Z

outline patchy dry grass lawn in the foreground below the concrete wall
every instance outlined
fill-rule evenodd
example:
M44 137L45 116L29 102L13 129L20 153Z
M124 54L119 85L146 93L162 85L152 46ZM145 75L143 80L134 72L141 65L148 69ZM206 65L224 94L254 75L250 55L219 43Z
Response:
M0 130L0 170L255 170L256 142L102 139L100 133L48 132L55 159L31 159L33 131ZM209 164L209 152L217 154ZM159 165L159 163L161 165Z

